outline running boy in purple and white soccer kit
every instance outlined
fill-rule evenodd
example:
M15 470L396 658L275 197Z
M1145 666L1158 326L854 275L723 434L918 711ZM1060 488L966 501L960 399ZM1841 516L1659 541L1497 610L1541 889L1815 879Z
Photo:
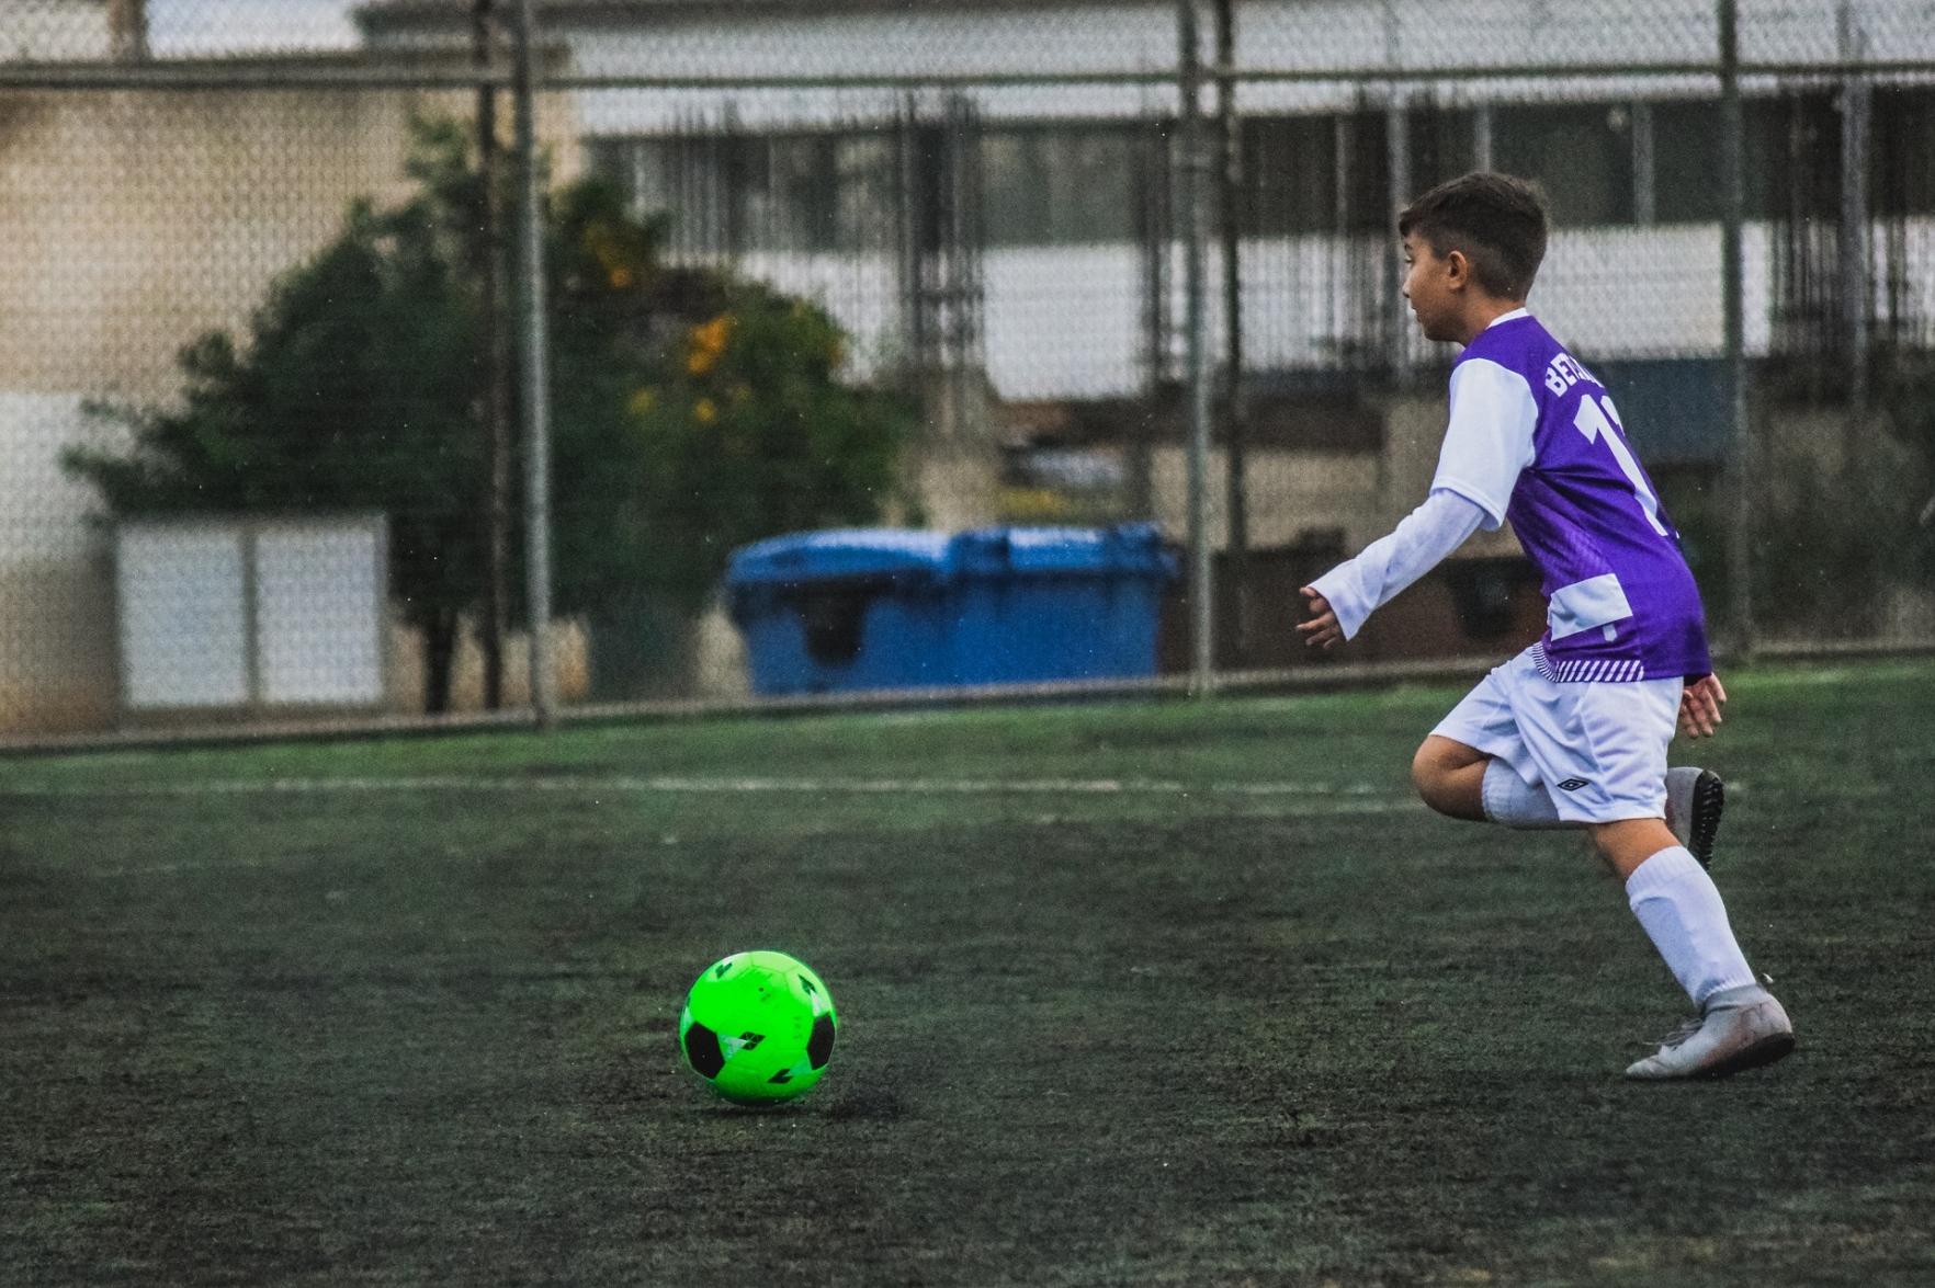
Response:
M1465 346L1430 495L1395 532L1302 588L1312 648L1478 528L1511 518L1540 572L1548 630L1494 669L1424 739L1424 803L1511 828L1585 828L1633 915L1699 1008L1625 1075L1726 1077L1794 1050L1780 1002L1753 977L1707 876L1720 779L1666 768L1678 723L1720 723L1699 590L1606 389L1525 311L1546 253L1540 191L1467 174L1399 215L1405 298L1426 338ZM1691 847L1691 849L1689 849Z

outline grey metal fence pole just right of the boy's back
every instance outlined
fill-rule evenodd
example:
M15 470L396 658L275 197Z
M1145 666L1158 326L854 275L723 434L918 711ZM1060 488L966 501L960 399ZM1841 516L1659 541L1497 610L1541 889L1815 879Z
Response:
M1747 217L1745 114L1740 102L1740 0L1720 6L1720 294L1726 329L1728 634L1742 658L1753 654L1753 433L1747 424L1747 306L1742 228Z

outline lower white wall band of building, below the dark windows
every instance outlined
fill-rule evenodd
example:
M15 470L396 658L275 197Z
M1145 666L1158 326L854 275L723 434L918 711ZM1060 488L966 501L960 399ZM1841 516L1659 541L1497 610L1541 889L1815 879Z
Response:
M1935 220L1912 226L1912 288L1935 282ZM1772 342L1771 234L1745 230L1747 352ZM1252 369L1337 362L1331 337L1347 282L1333 238L1250 238L1244 255L1264 269L1246 278L1244 346ZM900 337L894 265L886 255L747 255L741 267L782 290L817 300L855 338L859 375L890 362ZM1209 280L1221 255L1209 248ZM1391 251L1391 275L1397 255ZM1142 251L1132 244L997 248L983 257L987 377L1006 400L1113 398L1146 385ZM1182 253L1173 253L1171 315L1182 315ZM1879 288L1879 286L1877 286ZM1935 286L1921 290L1923 296ZM1722 354L1720 228L1585 228L1552 238L1531 298L1546 325L1583 360L1718 358ZM1929 302L1935 307L1935 300ZM1407 358L1445 360L1403 321ZM1209 311L1211 348L1223 342ZM1380 337L1366 337L1378 344ZM1180 354L1171 356L1180 364Z

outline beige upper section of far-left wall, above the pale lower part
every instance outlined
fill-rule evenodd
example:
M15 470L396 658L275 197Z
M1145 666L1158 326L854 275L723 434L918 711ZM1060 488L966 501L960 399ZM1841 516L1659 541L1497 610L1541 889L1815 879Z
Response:
M356 195L404 190L391 91L0 95L0 387L153 402Z

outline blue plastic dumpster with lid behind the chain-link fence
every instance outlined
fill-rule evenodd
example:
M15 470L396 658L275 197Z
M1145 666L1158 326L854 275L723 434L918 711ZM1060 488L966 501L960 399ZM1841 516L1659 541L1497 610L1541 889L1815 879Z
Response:
M1175 557L1153 524L857 528L747 545L726 600L753 692L1155 675Z

